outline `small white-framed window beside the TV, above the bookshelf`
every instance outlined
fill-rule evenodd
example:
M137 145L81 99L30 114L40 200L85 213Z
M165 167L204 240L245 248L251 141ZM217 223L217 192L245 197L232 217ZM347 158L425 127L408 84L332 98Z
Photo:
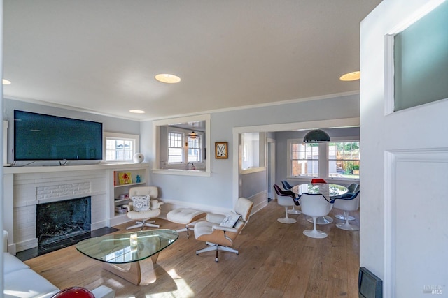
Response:
M139 135L104 133L106 142L106 162L132 161L139 147Z

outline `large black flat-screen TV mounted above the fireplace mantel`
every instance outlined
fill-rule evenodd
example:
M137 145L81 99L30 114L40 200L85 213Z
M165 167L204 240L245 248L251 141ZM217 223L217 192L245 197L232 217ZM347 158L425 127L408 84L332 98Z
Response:
M103 124L14 110L14 160L102 160Z

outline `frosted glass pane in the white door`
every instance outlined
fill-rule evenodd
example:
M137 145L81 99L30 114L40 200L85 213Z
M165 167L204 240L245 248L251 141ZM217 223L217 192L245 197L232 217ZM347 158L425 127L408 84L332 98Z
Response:
M448 98L447 13L445 2L393 36L395 111Z

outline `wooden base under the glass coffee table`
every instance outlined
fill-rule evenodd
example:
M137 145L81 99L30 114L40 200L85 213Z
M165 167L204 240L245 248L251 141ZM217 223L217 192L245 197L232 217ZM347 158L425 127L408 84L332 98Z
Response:
M134 285L148 285L157 279L154 271L154 264L157 262L159 254L152 255L138 262L129 264L113 264L103 262L103 269L124 278ZM142 278L143 277L143 278Z

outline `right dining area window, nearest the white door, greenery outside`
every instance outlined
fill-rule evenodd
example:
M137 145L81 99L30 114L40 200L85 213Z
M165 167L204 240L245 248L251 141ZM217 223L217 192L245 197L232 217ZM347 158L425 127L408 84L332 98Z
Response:
M359 179L359 142L328 143L328 176Z

